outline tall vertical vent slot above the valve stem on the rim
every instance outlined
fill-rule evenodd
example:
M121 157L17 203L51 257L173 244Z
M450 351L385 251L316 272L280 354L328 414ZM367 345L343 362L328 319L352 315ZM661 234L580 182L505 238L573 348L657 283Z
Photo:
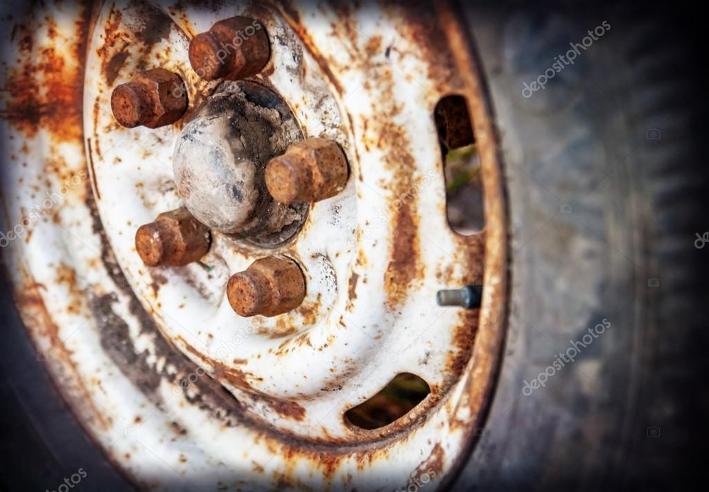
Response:
M446 215L452 230L473 235L485 225L480 160L463 96L445 96L434 110L443 155Z

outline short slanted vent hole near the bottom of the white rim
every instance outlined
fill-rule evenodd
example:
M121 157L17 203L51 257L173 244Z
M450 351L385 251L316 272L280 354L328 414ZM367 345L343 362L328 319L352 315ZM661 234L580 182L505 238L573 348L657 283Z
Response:
M408 372L394 376L389 384L364 403L345 412L356 427L372 430L402 418L431 392L428 383Z

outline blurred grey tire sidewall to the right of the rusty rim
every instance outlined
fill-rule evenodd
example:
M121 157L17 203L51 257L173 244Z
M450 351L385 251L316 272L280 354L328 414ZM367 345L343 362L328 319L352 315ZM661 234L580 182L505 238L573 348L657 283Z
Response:
M709 180L698 30L682 24L696 16L533 4L464 9L508 184L511 304L489 419L452 490L693 490L708 408L708 253L694 241Z

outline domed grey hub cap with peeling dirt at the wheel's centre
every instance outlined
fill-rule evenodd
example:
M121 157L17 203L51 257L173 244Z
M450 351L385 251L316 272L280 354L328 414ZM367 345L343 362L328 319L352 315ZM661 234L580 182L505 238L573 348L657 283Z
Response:
M227 82L199 108L179 136L173 170L190 213L213 230L259 245L277 245L303 224L307 203L274 201L266 164L303 133L269 89Z

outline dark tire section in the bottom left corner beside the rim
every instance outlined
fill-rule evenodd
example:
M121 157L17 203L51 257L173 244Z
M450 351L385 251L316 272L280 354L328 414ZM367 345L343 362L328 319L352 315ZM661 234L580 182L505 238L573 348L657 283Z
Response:
M0 278L0 287L0 489L56 490L82 468L96 490L131 490L130 483L86 436L53 386L4 278ZM78 486L74 489L81 490Z

